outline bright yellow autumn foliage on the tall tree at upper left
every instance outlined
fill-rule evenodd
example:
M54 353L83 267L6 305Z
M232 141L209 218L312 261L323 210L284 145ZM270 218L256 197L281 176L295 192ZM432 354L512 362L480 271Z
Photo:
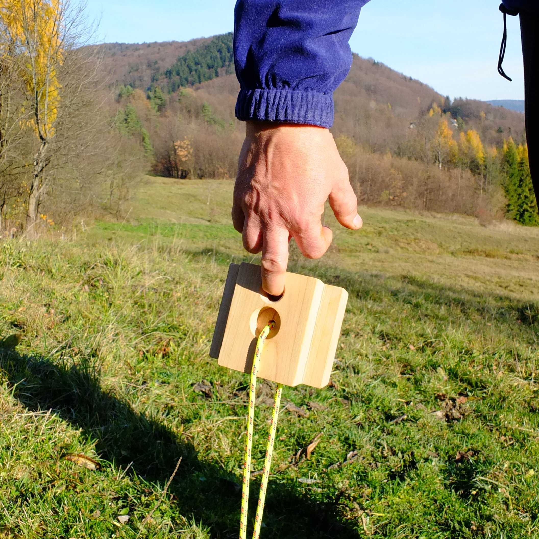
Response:
M17 51L23 57L21 75L27 92L24 124L40 138L54 136L60 104L58 68L62 49L60 0L0 0L0 57Z

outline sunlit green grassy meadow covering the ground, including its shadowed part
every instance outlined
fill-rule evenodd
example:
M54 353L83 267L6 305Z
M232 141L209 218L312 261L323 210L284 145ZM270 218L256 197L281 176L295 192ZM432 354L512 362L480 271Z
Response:
M238 536L247 376L208 356L227 265L257 261L231 187L151 178L123 222L0 246L0 338L22 334L0 344L0 537ZM330 386L285 388L308 417L281 414L262 537L539 536L539 232L361 215L326 215L320 261L293 248L350 299Z

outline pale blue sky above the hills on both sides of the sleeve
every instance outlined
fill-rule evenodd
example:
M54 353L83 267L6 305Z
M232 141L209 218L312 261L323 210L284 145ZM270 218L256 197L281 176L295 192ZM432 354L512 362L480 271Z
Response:
M307 2L307 0L306 0ZM523 99L518 19L508 17L503 63L499 0L371 0L350 39L354 52L429 84L452 98ZM234 0L88 0L106 42L185 41L229 32Z

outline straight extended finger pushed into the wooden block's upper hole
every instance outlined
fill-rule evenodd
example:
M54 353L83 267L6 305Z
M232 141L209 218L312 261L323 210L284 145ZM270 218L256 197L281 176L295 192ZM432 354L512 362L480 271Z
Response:
M288 266L288 230L264 230L262 240L262 288L272 296L281 295L285 288Z

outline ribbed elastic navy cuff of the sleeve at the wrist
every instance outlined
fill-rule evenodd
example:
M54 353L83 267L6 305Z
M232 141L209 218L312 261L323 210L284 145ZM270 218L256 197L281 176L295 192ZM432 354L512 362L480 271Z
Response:
M236 101L236 118L331 127L333 98L316 92L244 89Z

